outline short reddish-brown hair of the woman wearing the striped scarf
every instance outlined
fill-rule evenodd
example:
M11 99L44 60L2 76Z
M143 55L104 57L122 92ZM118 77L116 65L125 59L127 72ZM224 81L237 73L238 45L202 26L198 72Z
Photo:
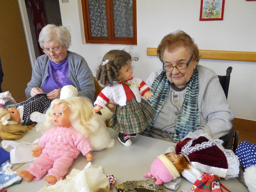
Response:
M187 47L194 57L196 62L199 61L199 50L197 44L195 44L194 39L192 39L184 31L178 30L174 33L170 33L162 39L161 43L157 47L157 54L161 61L163 61L164 50L167 48L169 51L177 47Z

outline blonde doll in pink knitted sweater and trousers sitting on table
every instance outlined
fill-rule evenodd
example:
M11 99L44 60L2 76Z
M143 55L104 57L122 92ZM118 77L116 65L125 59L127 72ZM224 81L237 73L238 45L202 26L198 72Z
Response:
M84 124L89 123L90 117L85 110L86 100L83 97L70 97L52 101L46 112L45 123L37 125L48 128L38 141L39 145L32 150L33 156L38 158L28 169L17 173L20 177L26 181L39 180L48 171L44 180L55 184L66 175L80 151L87 161L92 161L92 147L84 137L88 132Z

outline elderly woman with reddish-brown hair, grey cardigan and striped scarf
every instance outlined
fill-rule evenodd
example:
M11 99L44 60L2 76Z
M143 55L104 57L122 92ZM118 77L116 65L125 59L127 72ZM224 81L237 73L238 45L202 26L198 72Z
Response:
M200 56L194 40L183 31L170 33L157 53L163 69L146 81L154 94L148 102L156 116L142 134L172 142L190 131L208 133L213 139L228 134L234 114L218 76L197 64Z

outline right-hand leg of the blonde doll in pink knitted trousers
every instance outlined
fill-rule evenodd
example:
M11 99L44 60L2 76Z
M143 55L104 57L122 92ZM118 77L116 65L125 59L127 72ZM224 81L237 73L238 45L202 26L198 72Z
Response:
M53 176L56 178L56 181L60 180L60 178L63 179L63 177L67 174L69 167L73 163L73 158L68 156L60 156L58 157L55 162L53 163L52 169L48 171L48 175L46 176L45 180L49 182L47 179L49 178L52 180ZM55 183L56 183L55 181ZM50 184L55 184L54 182Z

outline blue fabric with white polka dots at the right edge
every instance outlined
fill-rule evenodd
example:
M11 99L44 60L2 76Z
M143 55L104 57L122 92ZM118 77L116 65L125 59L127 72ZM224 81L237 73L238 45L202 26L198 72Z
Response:
M236 148L236 155L239 158L240 163L244 166L244 169L252 165L256 165L256 145L247 141L243 141Z

